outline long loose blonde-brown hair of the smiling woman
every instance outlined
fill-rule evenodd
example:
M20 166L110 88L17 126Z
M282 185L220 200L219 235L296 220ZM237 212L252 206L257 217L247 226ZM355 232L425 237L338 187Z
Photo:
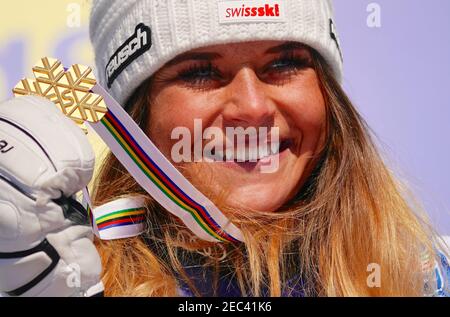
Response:
M145 235L96 241L107 296L177 296L180 280L201 295L183 268L186 261L215 272L213 289L221 270L227 270L244 296L264 295L264 288L270 296L285 295L294 276L306 296L423 295L424 279L431 273L422 271L421 258L424 252L435 254L435 234L407 203L406 189L383 163L330 67L312 53L326 100L327 142L306 184L276 213L228 210L220 197L212 198L241 227L245 243L196 239L114 156L107 157L97 178L95 204L142 195L148 209ZM149 89L151 79L128 103L144 131ZM199 186L207 191L206 184ZM381 269L380 287L367 283L371 263Z

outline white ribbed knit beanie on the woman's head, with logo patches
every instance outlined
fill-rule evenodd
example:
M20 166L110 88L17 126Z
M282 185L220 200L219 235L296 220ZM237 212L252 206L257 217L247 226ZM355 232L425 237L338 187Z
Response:
M331 0L94 0L90 37L97 78L122 106L175 56L216 44L301 42L342 77Z

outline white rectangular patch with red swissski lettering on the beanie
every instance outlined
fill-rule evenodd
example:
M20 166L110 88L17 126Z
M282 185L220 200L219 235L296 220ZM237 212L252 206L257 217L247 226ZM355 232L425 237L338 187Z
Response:
M219 23L284 22L283 1L219 1Z

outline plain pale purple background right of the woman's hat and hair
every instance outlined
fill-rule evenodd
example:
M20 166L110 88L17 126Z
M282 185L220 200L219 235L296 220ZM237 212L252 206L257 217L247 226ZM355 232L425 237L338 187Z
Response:
M381 6L369 28L368 4ZM336 0L344 86L440 233L450 234L450 1Z

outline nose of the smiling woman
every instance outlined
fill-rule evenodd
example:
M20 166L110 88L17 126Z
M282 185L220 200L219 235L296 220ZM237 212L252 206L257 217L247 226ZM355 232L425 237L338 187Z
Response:
M266 89L253 69L241 68L226 87L224 123L227 126L270 126L276 107Z

